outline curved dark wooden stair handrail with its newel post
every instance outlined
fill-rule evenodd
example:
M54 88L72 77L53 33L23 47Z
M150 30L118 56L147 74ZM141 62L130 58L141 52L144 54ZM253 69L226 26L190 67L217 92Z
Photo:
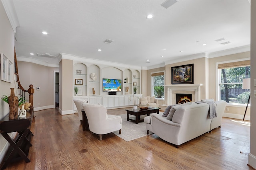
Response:
M17 76L17 83L18 83L18 89L22 90L22 92L28 92L29 94L29 97L28 97L28 102L31 103L30 107L33 107L33 94L34 94L34 88L33 88L33 85L30 84L29 85L29 88L28 90L25 90L22 85L20 84L20 78L19 78L19 73L18 73L18 64L17 64L17 57L16 57L16 51L15 51L15 48L14 48L14 67L15 67L15 73L16 76ZM23 94L23 93L22 93ZM22 95L22 94L19 94L19 95Z

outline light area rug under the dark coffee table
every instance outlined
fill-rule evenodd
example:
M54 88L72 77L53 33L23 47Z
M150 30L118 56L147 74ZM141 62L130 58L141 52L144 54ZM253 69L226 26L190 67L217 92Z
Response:
M147 130L146 130L146 123L139 122L136 124L134 121L127 121L126 114L120 115L122 117L122 131L119 135L118 131L114 131L116 136L124 139L124 141L132 141L134 139L138 139L140 137L147 136ZM145 116L140 116L140 119L143 119ZM130 115L129 117L133 117L133 115ZM152 132L149 133L151 135Z

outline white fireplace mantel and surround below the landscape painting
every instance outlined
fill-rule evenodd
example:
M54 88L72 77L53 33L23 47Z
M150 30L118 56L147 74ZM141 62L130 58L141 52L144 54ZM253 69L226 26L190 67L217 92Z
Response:
M172 101L172 94L175 91L191 91L194 92L195 101L200 101L200 86L203 84L170 84L165 85L167 87L167 104L172 105L174 102ZM175 101L176 102L176 101Z

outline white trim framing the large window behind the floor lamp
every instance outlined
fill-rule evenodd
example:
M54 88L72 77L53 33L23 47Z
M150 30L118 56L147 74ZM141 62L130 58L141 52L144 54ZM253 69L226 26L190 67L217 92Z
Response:
M224 63L233 63L233 62L238 62L238 61L246 61L246 60L250 60L250 58L244 58L244 59L237 59L237 60L230 60L230 61L222 61L222 62L218 62L215 63L215 82L216 82L216 99L220 100L220 69L218 69L218 64L224 64ZM234 104L234 103L227 103L228 106L245 106L247 104ZM250 106L250 104L248 105L248 107ZM250 108L250 107L249 107Z

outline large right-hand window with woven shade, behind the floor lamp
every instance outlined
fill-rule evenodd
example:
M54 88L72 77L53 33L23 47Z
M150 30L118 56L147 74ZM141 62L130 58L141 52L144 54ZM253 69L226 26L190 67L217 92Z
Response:
M250 78L250 61L218 64L220 71L220 100L227 103L247 104L250 89L242 89L244 78Z

